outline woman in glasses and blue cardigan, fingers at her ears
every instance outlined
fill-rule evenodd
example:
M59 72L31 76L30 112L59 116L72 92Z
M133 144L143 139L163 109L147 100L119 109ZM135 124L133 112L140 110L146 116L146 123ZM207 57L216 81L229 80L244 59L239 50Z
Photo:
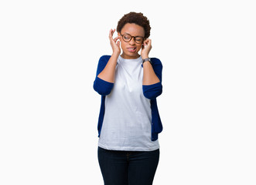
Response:
M112 55L101 56L97 66L98 160L105 185L152 184L159 163L156 97L162 93L162 63L149 58L150 29L142 13L124 15L118 36L113 39L115 29L109 32Z

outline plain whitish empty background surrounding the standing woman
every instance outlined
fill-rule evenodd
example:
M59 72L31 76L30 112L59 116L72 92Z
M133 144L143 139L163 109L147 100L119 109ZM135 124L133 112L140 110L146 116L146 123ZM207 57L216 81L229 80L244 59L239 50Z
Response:
M152 25L164 126L155 185L256 183L254 1L1 1L0 183L103 184L93 90L124 14Z

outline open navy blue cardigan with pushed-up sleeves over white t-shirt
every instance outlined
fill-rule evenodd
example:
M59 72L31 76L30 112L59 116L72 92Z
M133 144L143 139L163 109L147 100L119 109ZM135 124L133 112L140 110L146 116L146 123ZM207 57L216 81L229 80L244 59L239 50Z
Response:
M101 95L101 110L97 123L98 136L101 135L101 127L104 119L105 96L111 93L114 83L104 81L97 76L105 68L110 57L111 55L101 56L97 66L96 78L94 80L94 90ZM156 104L156 97L162 94L162 62L156 58L151 58L151 61L155 75L159 77L160 82L147 86L143 85L142 89L144 96L147 99L150 99L152 109L152 141L155 141L158 140L158 134L162 132L162 122Z

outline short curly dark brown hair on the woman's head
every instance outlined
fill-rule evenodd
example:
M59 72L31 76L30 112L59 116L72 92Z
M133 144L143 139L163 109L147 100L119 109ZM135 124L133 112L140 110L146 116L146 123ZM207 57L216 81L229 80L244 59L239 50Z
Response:
M146 18L142 13L130 12L128 14L125 14L118 22L117 31L121 32L121 29L127 23L135 23L136 25L142 26L145 31L144 37L145 39L148 39L151 27L149 25L148 18Z

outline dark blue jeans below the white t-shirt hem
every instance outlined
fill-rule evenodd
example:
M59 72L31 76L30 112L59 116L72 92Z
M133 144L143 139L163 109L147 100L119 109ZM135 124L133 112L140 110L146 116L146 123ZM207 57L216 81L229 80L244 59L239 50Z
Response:
M104 185L152 185L159 150L135 152L98 147L97 154Z

